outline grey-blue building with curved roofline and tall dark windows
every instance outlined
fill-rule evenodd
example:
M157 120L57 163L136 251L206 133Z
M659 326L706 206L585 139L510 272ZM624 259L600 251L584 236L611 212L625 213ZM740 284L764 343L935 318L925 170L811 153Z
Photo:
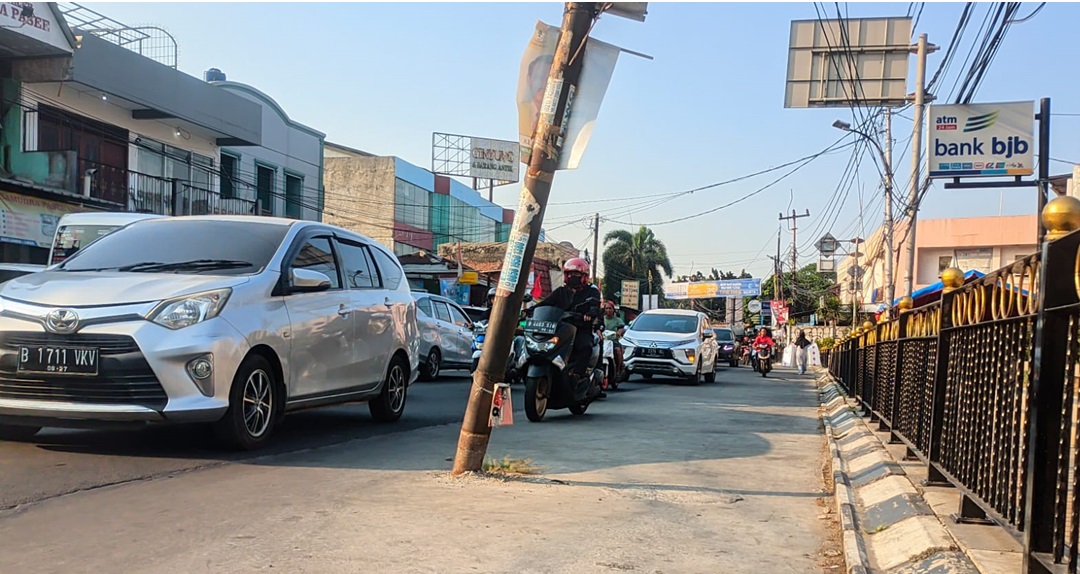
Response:
M222 146L219 190L258 204L262 215L322 221L323 145L326 134L289 119L269 95L227 81L217 68L205 80L262 108L262 144Z

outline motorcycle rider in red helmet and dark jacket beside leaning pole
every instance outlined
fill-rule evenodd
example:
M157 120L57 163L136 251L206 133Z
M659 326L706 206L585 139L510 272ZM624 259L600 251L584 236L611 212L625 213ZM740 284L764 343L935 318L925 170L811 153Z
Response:
M589 283L590 271L589 262L585 259L575 257L567 261L563 264L565 284L536 305L536 307L558 307L565 311L577 310L582 313L582 320L575 321L578 333L573 337L573 349L570 351L570 363L578 365L577 371L571 373L571 376L578 385L579 391L583 390L582 386L588 388L589 385L585 369L589 357L593 352L593 331L596 330L596 320L600 316L600 292ZM586 309L578 309L590 298L595 301ZM600 395L600 398L604 398L604 393Z

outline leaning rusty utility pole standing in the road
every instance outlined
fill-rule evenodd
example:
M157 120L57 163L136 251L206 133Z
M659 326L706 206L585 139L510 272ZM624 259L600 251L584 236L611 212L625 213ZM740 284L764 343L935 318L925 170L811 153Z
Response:
M522 270L532 267L532 255L540 239L551 183L558 168L565 122L569 117L569 95L578 90L581 63L584 61L582 49L597 15L595 2L567 2L563 13L562 35L548 75L543 98L545 105L537 120L532 155L522 186L521 209L514 215L513 228L507 241L507 259L491 308L487 344L473 376L469 405L461 423L451 471L455 476L480 470L484 465L487 443L491 437L488 425L491 398L495 385L502 381L507 370L510 345L528 282L527 272L523 276ZM512 253L512 248L521 255Z

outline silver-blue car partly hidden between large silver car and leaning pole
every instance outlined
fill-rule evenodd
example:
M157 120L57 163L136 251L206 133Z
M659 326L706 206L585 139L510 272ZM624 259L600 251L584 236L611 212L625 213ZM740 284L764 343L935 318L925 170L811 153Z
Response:
M473 322L451 299L414 293L420 328L420 376L434 381L443 369L472 364Z

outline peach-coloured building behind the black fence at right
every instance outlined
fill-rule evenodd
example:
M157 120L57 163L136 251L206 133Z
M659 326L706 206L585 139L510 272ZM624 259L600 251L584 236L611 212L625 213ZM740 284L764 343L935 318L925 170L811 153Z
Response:
M989 272L1000 269L1018 258L1037 251L1038 222L1032 215L995 217L954 217L947 219L920 219L915 235L914 290L935 283L942 270L957 266L964 271ZM906 252L902 248L908 224L897 223L893 232L899 252L894 259L895 295L901 297L907 269ZM876 311L885 303L885 259L882 229L878 228L862 244L859 266L863 276L859 292L860 306ZM852 257L845 257L837 265L840 301L851 303Z

